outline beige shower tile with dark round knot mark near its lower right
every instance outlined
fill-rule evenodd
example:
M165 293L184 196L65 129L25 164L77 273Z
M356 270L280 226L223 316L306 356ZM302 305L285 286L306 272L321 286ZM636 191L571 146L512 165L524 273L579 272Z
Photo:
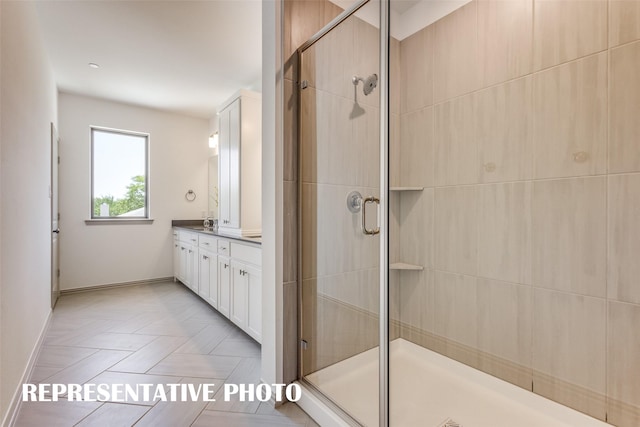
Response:
M605 173L607 52L536 73L533 87L534 178Z

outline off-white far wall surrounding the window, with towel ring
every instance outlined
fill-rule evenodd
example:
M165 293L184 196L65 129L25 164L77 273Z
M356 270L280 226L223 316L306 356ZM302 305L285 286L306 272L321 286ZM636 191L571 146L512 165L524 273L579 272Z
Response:
M58 105L61 289L172 276L171 220L197 219L207 210L209 121L66 93ZM85 224L92 125L150 134L153 224ZM184 197L189 189L193 202Z

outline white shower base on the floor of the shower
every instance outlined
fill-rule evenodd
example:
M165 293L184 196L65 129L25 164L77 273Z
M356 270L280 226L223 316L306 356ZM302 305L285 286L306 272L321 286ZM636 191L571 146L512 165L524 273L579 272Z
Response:
M390 425L393 427L610 426L404 339L391 342ZM378 349L306 379L365 426L378 421ZM324 427L341 424L303 391L298 404ZM449 422L449 424L447 424Z

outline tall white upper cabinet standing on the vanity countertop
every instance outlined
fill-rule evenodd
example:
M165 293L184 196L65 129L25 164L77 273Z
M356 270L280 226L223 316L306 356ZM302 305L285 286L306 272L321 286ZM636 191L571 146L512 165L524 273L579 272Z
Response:
M234 237L262 232L262 98L241 90L218 111L218 227Z

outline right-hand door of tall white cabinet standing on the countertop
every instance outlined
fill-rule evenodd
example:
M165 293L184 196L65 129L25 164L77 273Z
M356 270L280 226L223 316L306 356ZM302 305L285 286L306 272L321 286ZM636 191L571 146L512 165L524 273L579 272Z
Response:
M229 227L240 228L240 100L229 108Z

